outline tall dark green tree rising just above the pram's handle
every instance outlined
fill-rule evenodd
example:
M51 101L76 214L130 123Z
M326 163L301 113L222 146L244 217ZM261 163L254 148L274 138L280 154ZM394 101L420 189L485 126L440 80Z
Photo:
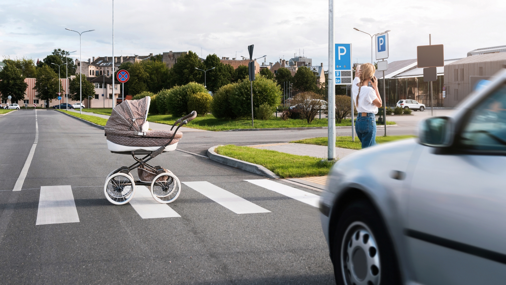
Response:
M190 82L202 82L201 77L203 78L204 74L201 74L202 71L195 69L195 67L200 69L204 67L204 64L196 53L189 51L187 55L178 58L176 64L171 68L170 86L182 86Z

